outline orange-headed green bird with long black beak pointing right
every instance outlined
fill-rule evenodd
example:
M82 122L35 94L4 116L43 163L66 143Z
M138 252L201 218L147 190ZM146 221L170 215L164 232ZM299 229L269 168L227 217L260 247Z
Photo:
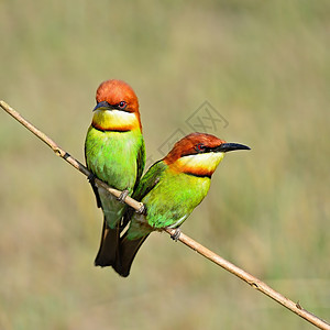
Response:
M133 194L144 204L144 213L130 209L124 216L131 218L131 223L121 238L114 267L121 276L129 276L139 248L152 231L178 228L188 218L206 197L224 154L234 150L250 147L210 134L191 133L147 170Z

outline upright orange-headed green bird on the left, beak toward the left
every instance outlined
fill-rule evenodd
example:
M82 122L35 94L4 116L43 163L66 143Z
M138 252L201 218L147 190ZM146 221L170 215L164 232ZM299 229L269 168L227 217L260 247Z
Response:
M103 230L96 266L114 264L122 216L127 205L95 185L94 178L131 195L145 164L145 150L134 90L122 80L103 81L96 94L97 106L85 141L85 157L94 177L91 186L98 207L105 215Z

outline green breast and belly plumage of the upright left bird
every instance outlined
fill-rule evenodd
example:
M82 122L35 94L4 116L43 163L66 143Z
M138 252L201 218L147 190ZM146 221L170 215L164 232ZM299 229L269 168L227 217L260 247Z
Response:
M109 186L131 195L144 168L145 151L142 134L139 131L111 132L89 128L85 155L88 168ZM105 189L96 193L110 228L121 219L125 205L119 202Z

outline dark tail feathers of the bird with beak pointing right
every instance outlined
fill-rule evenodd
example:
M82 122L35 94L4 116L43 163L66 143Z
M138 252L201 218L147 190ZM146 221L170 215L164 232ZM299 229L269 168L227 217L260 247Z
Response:
M127 233L121 238L119 245L119 257L117 258L116 265L113 266L114 271L123 276L128 277L130 275L130 270L133 263L133 260L142 245L142 243L148 237L142 237L136 240L129 240Z

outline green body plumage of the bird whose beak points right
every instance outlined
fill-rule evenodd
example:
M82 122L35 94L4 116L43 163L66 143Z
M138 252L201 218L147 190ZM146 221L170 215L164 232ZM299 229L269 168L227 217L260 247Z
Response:
M129 239L143 237L151 229L180 226L201 202L210 187L209 177L197 177L168 169L163 162L153 165L141 179L133 197L146 207L146 216L133 215Z

